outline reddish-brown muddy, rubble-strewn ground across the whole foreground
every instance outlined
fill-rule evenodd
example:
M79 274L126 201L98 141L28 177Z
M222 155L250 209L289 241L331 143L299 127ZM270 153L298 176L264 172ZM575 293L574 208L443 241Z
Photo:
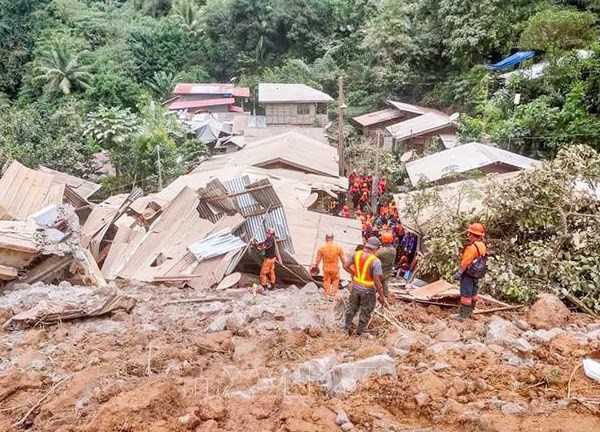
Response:
M600 323L582 314L539 330L527 310L460 323L396 302L400 328L376 317L371 337L355 338L340 332L343 300L314 285L165 304L202 295L62 283L4 292L0 321L42 300L93 306L114 292L137 299L131 314L0 333L0 431L600 431L600 383L574 371L600 347ZM395 376L348 392L298 372L378 355Z

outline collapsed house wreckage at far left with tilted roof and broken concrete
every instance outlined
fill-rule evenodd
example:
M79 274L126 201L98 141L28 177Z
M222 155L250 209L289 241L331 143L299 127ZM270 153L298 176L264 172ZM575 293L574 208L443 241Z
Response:
M96 262L79 242L79 220L99 185L12 161L0 179L0 284L48 281L69 271L103 286Z

